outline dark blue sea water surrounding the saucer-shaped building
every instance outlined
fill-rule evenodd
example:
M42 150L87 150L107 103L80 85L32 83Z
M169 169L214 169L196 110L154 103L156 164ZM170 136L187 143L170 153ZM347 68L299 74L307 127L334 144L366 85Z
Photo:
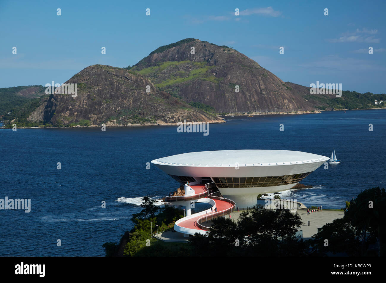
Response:
M321 166L301 182L313 188L283 194L307 206L341 208L364 189L384 187L385 110L227 119L211 124L208 136L176 126L0 130L0 198L31 199L30 213L0 210L0 256L103 256L103 243L132 228L143 196L178 187L146 162L184 152L282 149L330 157L335 147L341 164Z

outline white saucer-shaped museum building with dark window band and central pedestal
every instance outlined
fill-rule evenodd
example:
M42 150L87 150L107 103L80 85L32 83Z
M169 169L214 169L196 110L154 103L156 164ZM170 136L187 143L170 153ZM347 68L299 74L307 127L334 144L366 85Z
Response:
M257 204L257 196L285 191L329 158L301 151L227 150L177 154L151 161L179 183L214 182L236 206Z

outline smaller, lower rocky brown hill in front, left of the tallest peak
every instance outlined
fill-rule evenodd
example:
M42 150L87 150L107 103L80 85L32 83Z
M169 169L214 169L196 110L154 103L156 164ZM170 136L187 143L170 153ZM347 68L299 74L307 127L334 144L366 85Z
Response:
M30 121L54 126L167 125L184 119L223 122L158 90L146 77L121 68L93 65L66 83L78 84L77 97L51 94L30 114Z

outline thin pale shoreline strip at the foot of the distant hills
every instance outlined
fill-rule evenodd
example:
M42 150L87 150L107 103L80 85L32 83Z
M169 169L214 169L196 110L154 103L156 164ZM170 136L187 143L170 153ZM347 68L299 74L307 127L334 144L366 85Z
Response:
M325 112L325 111L352 111L352 110L371 110L371 109L386 109L386 107L383 107L383 108L378 108L378 107L374 107L374 108L366 108L366 109L360 109L360 108L356 108L356 109L334 109L334 110L313 110L313 111L291 111L291 112L252 112L252 113L249 113L249 114L244 114L245 112L243 113L229 113L227 115L218 115L218 117L220 117L221 119L224 120L225 122L225 117L232 117L233 116L245 116L247 117L248 115L252 115L252 116L261 116L261 115L293 115L293 114L317 114L317 113L322 113L322 112ZM222 124L222 122L210 122L210 124ZM134 125L106 125L106 127L142 127L142 126L177 126L177 123L175 124L134 124ZM44 127L44 126L41 126L41 127L18 127L17 129L71 129L71 128L95 128L95 127L101 127L99 125L91 125L91 126L71 126L71 127ZM12 129L12 128L5 128L5 127L0 127L0 130L3 129L3 130L8 130L8 129Z

